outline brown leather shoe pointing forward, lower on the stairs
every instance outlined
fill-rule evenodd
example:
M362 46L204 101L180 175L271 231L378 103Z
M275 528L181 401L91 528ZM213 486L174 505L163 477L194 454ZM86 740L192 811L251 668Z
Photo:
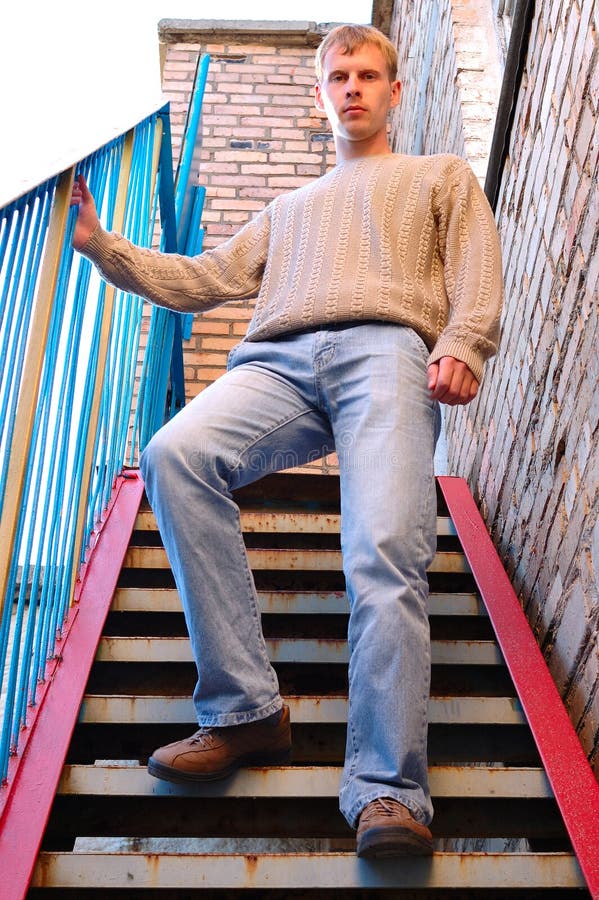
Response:
M433 836L403 803L379 797L364 807L358 822L358 856L430 856Z

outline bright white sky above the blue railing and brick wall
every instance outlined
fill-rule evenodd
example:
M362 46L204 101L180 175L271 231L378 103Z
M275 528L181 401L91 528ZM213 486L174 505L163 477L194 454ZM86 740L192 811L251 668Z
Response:
M0 206L160 105L160 19L216 18L214 6L208 11L199 0L18 0L6 6L0 13ZM372 0L218 3L219 19L363 23L371 13Z

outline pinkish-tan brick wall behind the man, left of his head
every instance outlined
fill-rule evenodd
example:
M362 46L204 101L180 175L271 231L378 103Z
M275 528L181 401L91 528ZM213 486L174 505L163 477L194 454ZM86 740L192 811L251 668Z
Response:
M313 103L314 51L322 32L309 23L163 21L163 88L171 101L175 158L198 55L209 53L202 113L200 183L207 188L204 247L237 232L284 191L334 165L328 123ZM188 398L225 371L245 334L253 303L195 316L185 346Z

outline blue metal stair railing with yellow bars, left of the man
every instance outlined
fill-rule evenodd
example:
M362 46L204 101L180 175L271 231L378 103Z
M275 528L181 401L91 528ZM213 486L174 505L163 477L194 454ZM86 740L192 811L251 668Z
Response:
M176 230L166 110L0 211L3 783L116 479L168 416L175 314L152 321L142 362L143 302L71 249L76 172L107 228L150 246L160 197Z

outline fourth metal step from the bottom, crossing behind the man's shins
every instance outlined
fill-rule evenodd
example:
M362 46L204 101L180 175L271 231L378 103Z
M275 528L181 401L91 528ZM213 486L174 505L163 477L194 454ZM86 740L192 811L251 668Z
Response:
M346 664L349 649L345 640L310 638L267 638L268 656L273 663ZM433 665L501 666L503 657L494 641L432 641ZM193 662L187 637L102 637L96 654L98 662Z

